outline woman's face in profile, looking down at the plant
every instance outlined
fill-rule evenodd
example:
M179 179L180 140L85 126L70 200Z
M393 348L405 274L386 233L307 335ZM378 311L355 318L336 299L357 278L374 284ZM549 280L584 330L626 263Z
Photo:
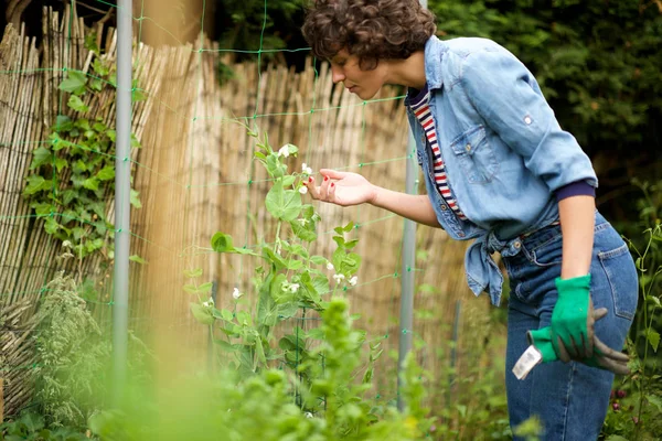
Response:
M341 50L331 58L333 83L342 82L349 92L361 99L371 99L386 83L385 63L377 64L372 71L362 71L356 55Z

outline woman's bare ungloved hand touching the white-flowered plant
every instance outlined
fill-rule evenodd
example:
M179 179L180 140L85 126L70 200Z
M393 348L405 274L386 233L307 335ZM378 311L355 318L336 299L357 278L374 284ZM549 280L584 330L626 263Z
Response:
M376 197L377 187L357 173L322 169L320 174L323 178L319 186L316 185L312 176L305 182L308 193L313 200L351 206L366 202L372 203Z

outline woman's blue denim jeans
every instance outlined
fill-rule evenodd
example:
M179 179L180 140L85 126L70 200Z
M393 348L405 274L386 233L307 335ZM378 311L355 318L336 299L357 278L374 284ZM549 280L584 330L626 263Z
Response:
M512 373L528 347L526 331L549 325L560 259L558 225L521 238L521 252L503 259L511 288L505 359L510 422L514 428L536 415L544 427L544 440L596 440L609 407L613 374L560 361L536 366L524 380ZM597 212L590 273L594 306L609 311L596 323L596 335L619 351L637 310L638 277L628 246Z

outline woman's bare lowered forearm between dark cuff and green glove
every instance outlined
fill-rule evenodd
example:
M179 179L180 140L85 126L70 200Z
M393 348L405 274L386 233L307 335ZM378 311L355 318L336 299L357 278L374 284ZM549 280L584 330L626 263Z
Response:
M562 279L586 276L590 270L595 211L592 196L570 196L558 202L563 233Z

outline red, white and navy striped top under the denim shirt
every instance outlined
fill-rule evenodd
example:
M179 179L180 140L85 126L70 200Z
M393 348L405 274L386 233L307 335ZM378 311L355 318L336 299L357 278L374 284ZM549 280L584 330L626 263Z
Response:
M430 92L427 88L427 85L424 89L421 89L416 97L414 97L410 101L412 111L416 115L418 122L423 127L425 131L427 143L433 152L434 159L434 173L435 173L435 182L437 184L437 190L441 194L441 197L448 206L453 211L453 213L462 220L467 220L467 216L462 213L460 207L458 206L458 202L453 197L450 186L448 184L448 175L446 174L446 165L444 164L444 159L441 158L441 150L439 150L439 143L437 141L437 130L435 129L435 120L430 112Z

